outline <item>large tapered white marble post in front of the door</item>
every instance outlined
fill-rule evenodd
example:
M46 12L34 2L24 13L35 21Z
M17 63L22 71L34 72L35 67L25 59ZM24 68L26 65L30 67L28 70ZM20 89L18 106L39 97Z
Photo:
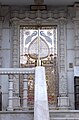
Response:
M45 68L35 68L34 120L49 120Z

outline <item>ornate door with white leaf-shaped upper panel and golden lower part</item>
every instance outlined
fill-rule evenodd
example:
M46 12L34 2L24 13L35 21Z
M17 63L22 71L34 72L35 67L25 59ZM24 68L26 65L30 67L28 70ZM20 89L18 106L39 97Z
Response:
M40 46L40 50L38 49ZM39 54L39 55L38 55ZM20 67L45 67L49 106L56 108L58 96L57 27L20 28ZM20 76L22 104L23 78ZM34 75L28 75L28 105L34 104Z

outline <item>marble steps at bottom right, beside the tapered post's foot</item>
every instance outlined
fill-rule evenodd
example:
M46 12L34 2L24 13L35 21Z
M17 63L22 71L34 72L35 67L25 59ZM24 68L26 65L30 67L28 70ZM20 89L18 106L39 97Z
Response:
M50 120L79 120L79 110L52 110Z

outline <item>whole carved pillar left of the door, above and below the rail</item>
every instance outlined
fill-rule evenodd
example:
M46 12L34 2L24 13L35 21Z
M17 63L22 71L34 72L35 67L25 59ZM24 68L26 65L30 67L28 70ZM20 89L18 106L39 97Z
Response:
M13 46L12 46L12 64L13 68L19 68L19 20L17 18L12 19L12 29L13 29ZM20 106L19 98L19 75L14 75L14 106L18 108Z

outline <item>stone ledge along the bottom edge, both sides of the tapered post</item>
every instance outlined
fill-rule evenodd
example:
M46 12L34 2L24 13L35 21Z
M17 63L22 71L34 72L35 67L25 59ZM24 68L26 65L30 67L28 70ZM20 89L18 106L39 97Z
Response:
M34 120L34 111L0 111L2 120ZM79 110L50 110L50 120L79 120Z

